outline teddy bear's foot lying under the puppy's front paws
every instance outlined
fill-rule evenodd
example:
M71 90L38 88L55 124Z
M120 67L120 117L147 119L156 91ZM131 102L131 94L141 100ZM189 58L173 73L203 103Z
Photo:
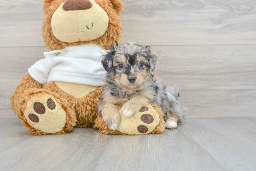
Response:
M135 115L127 117L121 111L123 104L117 107L121 117L117 130L109 129L102 116L99 115L93 127L103 134L144 135L164 132L164 114L158 105L150 103L142 107Z

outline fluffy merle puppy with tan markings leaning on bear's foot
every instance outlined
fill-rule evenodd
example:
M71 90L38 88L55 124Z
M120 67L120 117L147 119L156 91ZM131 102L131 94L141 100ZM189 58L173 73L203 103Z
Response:
M125 116L135 115L149 102L157 104L165 114L166 128L174 129L181 122L185 108L175 85L154 77L157 56L149 46L127 42L112 46L102 58L108 72L104 81L102 101L98 103L98 115L102 115L106 126L116 130L120 115L117 105Z

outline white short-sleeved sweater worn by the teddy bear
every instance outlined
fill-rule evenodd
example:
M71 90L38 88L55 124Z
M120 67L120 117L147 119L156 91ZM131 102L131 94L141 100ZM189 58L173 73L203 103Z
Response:
M101 66L101 55L104 52L106 50L100 45L69 46L61 53L45 53L46 58L28 68L28 73L41 84L63 81L102 86L102 79L107 73Z

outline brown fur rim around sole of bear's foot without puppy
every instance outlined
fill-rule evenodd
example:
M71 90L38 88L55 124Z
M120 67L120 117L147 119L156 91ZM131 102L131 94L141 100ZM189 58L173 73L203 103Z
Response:
M66 112L66 123L65 123L65 126L62 128L62 130L60 132L45 133L45 132L42 132L42 131L40 131L36 128L33 128L32 126L30 126L28 124L27 119L24 116L24 111L26 109L27 102L30 100L30 98L32 96L35 96L35 95L38 95L38 94L39 95L49 94L49 95L53 96L55 98L55 100L57 101L57 103L59 103L61 105L62 109L65 110L65 112ZM73 129L73 127L75 126L75 122L76 122L75 114L69 108L68 102L65 99L61 98L56 93L53 93L53 92L50 92L50 91L44 90L44 89L28 89L28 90L24 91L24 93L20 96L19 109L18 109L17 115L22 120L21 123L24 125L24 127L27 128L28 131L30 131L34 135L66 133L66 132Z

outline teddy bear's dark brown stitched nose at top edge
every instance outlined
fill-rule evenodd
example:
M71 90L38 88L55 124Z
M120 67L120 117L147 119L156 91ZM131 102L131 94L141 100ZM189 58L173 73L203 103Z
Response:
M86 10L92 7L92 3L89 0L67 0L63 5L63 10Z

